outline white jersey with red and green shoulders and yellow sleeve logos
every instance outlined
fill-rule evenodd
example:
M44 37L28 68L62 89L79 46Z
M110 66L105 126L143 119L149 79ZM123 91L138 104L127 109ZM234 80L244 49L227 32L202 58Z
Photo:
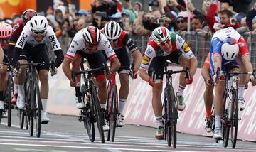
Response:
M181 51L188 60L194 56L185 40L176 33L171 33L171 53L174 53L175 51ZM150 36L140 67L144 70L148 70L153 58L168 56L171 53L166 53L164 50L161 50L160 46L153 40L153 36Z

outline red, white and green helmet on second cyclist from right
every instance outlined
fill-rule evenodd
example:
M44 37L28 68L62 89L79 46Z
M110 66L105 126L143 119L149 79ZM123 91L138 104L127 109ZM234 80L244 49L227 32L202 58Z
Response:
M153 39L156 43L166 43L166 40L171 39L170 31L164 26L160 26L152 32Z

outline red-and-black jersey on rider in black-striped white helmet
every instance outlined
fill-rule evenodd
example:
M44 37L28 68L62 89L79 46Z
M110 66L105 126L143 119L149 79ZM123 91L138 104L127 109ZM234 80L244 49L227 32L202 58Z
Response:
M103 29L100 30L100 32L104 34ZM114 40L111 46L114 50L119 50L127 47L129 53L133 53L135 50L138 50L137 45L134 44L132 38L130 38L129 34L125 31L121 31L119 38L117 40Z

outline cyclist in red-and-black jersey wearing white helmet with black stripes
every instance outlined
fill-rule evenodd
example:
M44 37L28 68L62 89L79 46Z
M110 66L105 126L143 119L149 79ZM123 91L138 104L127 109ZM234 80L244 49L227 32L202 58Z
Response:
M110 40L110 44L121 63L121 67L118 70L121 87L119 90L119 114L117 118L117 126L124 126L123 109L129 93L130 59L128 51L134 58L133 78L137 78L137 71L139 70L140 62L142 60L142 54L139 52L137 45L134 44L128 33L123 31L119 26L119 23L110 21L105 25L101 32L105 34L108 40Z

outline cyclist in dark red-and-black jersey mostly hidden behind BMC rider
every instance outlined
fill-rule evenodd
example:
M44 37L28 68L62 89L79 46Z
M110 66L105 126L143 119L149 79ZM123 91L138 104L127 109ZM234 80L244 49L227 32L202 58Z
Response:
M18 20L17 23L14 25L12 33L11 33L11 38L9 39L8 43L8 51L7 51L7 56L9 60L11 61L11 54L14 50L14 47L16 45L16 42L21 36L21 32L23 30L23 27L26 25L26 23L31 20L33 16L37 16L36 11L33 9L28 9L23 12L22 14L22 19ZM17 97L18 97L18 79L14 77L14 97L11 99L11 102L17 102Z

